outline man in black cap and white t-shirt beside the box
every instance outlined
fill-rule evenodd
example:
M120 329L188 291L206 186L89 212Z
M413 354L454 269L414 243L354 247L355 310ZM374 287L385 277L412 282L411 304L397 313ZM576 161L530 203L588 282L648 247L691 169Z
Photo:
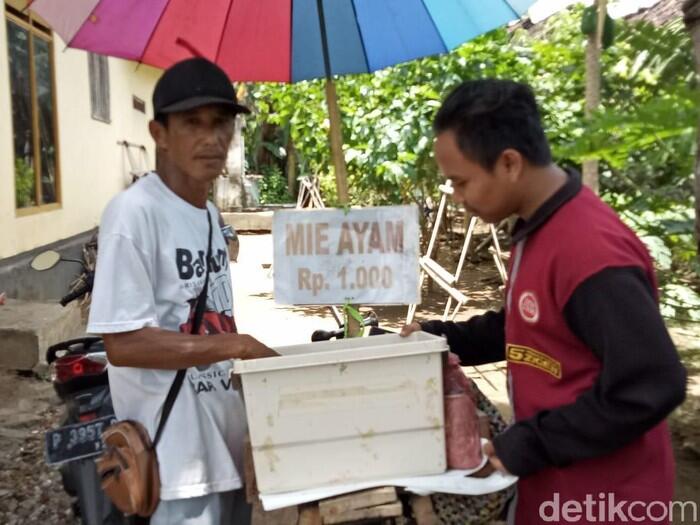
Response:
M163 74L153 108L158 172L105 210L88 330L104 337L117 417L142 423L151 438L175 371L187 369L157 445L161 503L151 524L248 523L241 490L247 427L230 360L275 353L236 333L226 241L207 196L235 117L249 111L226 74L202 58ZM200 337L190 334L205 281L199 333L209 337Z

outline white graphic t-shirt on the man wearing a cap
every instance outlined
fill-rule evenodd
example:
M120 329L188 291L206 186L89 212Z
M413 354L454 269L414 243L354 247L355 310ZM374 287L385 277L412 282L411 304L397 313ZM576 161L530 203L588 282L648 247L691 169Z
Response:
M228 251L212 219L212 257L202 333L234 332ZM97 272L88 331L144 327L191 332L194 304L204 286L209 225L194 207L151 173L117 195L100 225ZM187 371L158 443L161 499L182 499L242 486L245 409L231 387L230 362ZM175 371L110 366L119 419L142 423L155 436Z

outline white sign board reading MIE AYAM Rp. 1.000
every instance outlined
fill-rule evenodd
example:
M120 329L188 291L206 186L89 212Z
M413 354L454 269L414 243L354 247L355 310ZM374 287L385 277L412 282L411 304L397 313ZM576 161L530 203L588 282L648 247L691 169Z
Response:
M276 211L275 302L415 304L418 209Z

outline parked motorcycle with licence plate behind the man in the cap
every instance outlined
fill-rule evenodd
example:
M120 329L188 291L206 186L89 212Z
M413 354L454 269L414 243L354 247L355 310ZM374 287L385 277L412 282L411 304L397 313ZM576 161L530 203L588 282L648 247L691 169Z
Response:
M62 261L81 264L80 284L60 300L62 306L83 298L92 290L94 271L83 261L67 259L54 251L32 260L36 271L46 271ZM54 390L65 404L58 428L45 435L45 455L57 466L65 491L73 498L73 513L85 525L129 523L102 491L94 458L102 452L102 430L116 421L107 378L107 354L102 339L82 337L49 347Z

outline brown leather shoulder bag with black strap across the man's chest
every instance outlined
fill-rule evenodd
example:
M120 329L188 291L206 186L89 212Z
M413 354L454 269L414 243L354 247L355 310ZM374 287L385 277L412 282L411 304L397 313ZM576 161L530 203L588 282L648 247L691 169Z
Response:
M211 258L212 225L209 219L209 243L205 259L206 277L195 307L192 333L198 334L202 324L209 287L209 259ZM160 476L156 445L160 441L165 423L180 392L186 369L178 370L163 404L155 438L151 442L146 428L138 421L118 421L103 433L105 450L95 460L102 490L112 503L126 515L151 516L160 502Z

